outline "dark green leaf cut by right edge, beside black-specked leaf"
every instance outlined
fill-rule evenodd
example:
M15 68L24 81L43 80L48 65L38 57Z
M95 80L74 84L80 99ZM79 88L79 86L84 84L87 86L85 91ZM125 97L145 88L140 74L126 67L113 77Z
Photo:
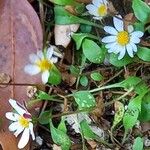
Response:
M150 92L143 97L139 120L150 121Z

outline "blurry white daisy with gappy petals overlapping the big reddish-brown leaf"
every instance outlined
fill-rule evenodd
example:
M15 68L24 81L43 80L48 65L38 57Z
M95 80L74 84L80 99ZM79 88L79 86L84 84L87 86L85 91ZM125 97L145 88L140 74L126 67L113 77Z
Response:
M54 48L54 46L50 46L45 55L42 51L37 51L37 54L30 54L29 59L31 64L26 65L24 71L29 75L36 75L42 72L42 82L46 84L53 63L57 63L58 57L61 55L54 51Z

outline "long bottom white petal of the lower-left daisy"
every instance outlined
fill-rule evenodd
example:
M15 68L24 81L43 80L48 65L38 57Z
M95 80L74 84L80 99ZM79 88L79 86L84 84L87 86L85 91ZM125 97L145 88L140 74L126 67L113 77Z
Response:
M30 133L29 128L26 128L26 129L23 131L23 134L22 134L22 136L21 136L21 139L20 139L20 141L19 141L19 143L18 143L18 148L19 148L19 149L24 148L24 147L27 145L27 143L29 142L29 135L30 135L29 133Z

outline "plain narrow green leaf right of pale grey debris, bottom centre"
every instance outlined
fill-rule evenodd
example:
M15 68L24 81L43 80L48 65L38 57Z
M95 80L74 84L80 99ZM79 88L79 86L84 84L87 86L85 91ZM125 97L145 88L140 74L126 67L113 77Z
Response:
M97 135L91 130L86 120L80 122L81 130L83 132L84 137L89 139L97 139Z

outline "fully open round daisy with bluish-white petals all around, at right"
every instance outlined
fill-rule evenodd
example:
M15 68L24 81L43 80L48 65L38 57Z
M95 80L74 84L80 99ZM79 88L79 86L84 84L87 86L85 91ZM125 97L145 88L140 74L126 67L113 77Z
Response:
M140 38L143 36L143 32L134 31L132 25L127 26L127 31L124 30L124 23L122 21L122 17L119 15L117 17L113 17L114 27L105 26L104 30L111 34L102 39L102 42L106 43L106 48L108 49L108 53L118 54L118 59L122 59L126 51L130 57L134 56L134 52L137 52L137 46L140 42Z

